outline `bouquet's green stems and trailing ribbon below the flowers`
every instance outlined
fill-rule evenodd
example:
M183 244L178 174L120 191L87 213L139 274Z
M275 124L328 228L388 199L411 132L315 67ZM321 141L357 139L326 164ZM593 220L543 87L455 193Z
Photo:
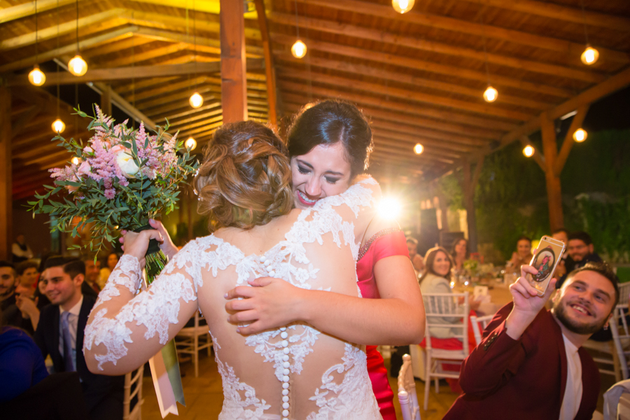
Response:
M149 229L153 228L150 225L144 225L136 229L135 232ZM146 265L143 276L146 286L148 286L158 278L169 259L162 252L158 241L155 239L149 241L145 259ZM184 400L183 386L181 384L181 372L179 371L175 340L172 339L166 346L162 347L160 353L149 360L149 365L151 366L153 386L155 386L155 393L158 396L158 405L160 405L162 419L169 413L179 414L176 402L186 406L186 401Z

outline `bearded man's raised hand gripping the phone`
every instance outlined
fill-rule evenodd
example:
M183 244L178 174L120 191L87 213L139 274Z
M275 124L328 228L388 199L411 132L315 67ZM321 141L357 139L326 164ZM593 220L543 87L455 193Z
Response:
M505 319L505 327L507 328L507 335L513 339L521 337L528 325L538 315L540 309L545 307L554 290L556 290L557 279L552 279L545 291L545 295L539 296L538 290L533 288L526 278L527 274L535 276L535 274L538 274L538 270L531 265L522 265L521 276L510 286L510 293L512 293L514 299L514 308L512 308L512 312Z

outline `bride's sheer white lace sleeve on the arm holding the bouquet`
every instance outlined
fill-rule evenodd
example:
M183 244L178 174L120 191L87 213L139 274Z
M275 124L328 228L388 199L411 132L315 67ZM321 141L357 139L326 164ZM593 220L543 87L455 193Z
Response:
M127 254L120 258L85 327L83 353L92 372L134 370L193 316L200 267L192 251L193 246L183 248L143 291L139 291L142 276L137 258Z

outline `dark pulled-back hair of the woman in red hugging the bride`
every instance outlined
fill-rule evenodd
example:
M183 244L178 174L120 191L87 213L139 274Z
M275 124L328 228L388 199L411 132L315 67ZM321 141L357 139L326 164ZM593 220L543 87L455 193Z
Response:
M304 106L288 129L289 156L306 155L315 146L332 146L341 141L351 178L362 174L374 148L372 129L367 118L349 102L328 99L314 106Z

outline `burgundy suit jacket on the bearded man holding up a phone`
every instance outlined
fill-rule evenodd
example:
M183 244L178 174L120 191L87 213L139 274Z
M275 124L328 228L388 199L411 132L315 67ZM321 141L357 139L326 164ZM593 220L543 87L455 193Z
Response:
M499 309L483 341L461 365L464 393L446 420L558 420L566 387L566 351L560 326L542 309L520 339L507 335L505 318L513 304ZM597 405L599 372L586 350L582 360L582 402L576 420L590 420Z

